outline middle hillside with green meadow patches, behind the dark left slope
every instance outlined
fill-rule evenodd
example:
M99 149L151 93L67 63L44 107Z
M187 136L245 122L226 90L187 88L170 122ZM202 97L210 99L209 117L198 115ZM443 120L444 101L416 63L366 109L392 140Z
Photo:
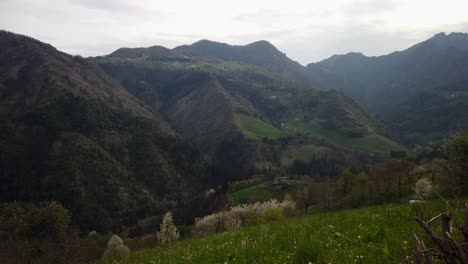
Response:
M187 51L188 46L173 50L176 56L184 53L177 61L160 59L159 55L152 57L149 51L152 48L127 50L126 53L132 54L128 57L113 53L92 60L130 93L162 113L178 133L209 149L216 157L226 151L220 149L223 142L232 142L230 138L237 141L243 135L242 143L236 145L246 147L232 153L245 157L236 164L245 163L254 154L255 164L245 166L241 171L244 175L251 171L251 166L284 165L275 158L276 154L268 154L271 146L265 146L268 144L260 140L264 138L279 140L305 135L324 139L341 152L358 150L388 155L390 150L404 149L382 136L383 125L343 93L303 89L268 67L240 63L243 57L238 58L236 54L243 54L243 47L201 43L218 47L209 49L217 56L216 60L194 55ZM224 54L225 49L232 53ZM234 52L238 49L241 51ZM375 138L385 140L375 144ZM274 148L279 155L285 151L283 147ZM256 150L252 152L252 149Z

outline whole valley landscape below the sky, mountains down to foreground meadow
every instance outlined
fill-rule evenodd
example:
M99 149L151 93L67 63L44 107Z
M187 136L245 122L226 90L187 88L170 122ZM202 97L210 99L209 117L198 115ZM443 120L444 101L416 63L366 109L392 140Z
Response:
M302 66L264 40L84 58L0 31L0 262L410 261L414 215L468 194L465 44Z

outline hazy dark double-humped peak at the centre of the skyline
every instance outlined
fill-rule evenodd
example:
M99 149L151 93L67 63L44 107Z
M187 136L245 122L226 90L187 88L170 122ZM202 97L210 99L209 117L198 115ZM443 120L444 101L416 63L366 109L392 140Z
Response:
M261 40L245 46L233 46L209 40L176 47L174 51L189 57L217 58L264 68L274 74L299 82L306 88L314 85L306 69L291 60L270 42Z

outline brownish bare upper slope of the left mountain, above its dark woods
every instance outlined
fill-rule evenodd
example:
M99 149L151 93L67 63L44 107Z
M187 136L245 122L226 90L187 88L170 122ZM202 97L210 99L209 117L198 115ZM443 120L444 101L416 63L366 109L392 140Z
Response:
M0 116L25 114L65 94L104 101L112 109L149 116L136 98L94 64L33 39L0 32Z

